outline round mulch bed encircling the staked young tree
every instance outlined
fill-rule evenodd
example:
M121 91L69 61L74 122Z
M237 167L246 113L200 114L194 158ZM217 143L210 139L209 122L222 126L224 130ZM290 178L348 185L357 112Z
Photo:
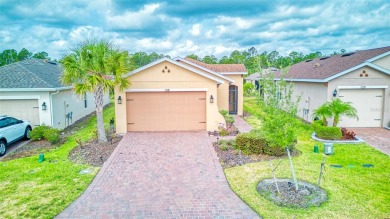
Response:
M289 208L308 208L320 206L328 199L325 190L311 183L298 180L298 190L295 190L291 179L276 179L280 194L273 179L265 179L257 185L257 191L264 198L278 206Z

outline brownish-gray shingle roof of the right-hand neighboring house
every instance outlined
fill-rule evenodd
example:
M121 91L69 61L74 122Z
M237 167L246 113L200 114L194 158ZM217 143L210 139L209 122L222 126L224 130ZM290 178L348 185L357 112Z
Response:
M390 46L305 60L290 66L285 78L324 80L389 52Z

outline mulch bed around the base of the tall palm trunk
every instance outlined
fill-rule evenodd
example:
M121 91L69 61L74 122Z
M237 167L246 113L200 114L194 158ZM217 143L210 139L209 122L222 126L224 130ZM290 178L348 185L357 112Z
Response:
M69 153L69 159L75 163L101 167L111 156L121 139L122 136L117 136L112 139L112 143L111 141L106 143L97 143L96 141L84 143Z

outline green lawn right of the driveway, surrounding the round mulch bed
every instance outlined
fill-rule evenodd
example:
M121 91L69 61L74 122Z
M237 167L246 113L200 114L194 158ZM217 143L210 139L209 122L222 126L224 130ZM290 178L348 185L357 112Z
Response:
M244 109L253 115L247 121L261 127L256 115L261 114L254 98L245 98ZM312 130L307 125L299 130L297 148L302 155L293 158L297 178L317 183L323 154L313 153ZM321 187L328 193L328 201L320 207L290 209L279 207L260 196L257 183L271 178L269 162L259 162L225 169L231 188L264 218L389 218L390 217L390 157L367 144L335 144L335 154L326 159L325 180ZM274 165L278 161L274 161ZM373 168L363 168L371 163ZM341 164L343 168L332 168ZM348 167L348 165L353 165ZM283 159L277 177L291 177L289 163Z

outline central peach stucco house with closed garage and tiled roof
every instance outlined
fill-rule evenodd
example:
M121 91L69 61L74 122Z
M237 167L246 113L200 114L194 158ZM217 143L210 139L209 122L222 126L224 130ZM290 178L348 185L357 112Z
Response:
M131 87L115 90L116 130L215 131L225 124L220 110L242 115L241 64L206 64L162 58L127 75Z

